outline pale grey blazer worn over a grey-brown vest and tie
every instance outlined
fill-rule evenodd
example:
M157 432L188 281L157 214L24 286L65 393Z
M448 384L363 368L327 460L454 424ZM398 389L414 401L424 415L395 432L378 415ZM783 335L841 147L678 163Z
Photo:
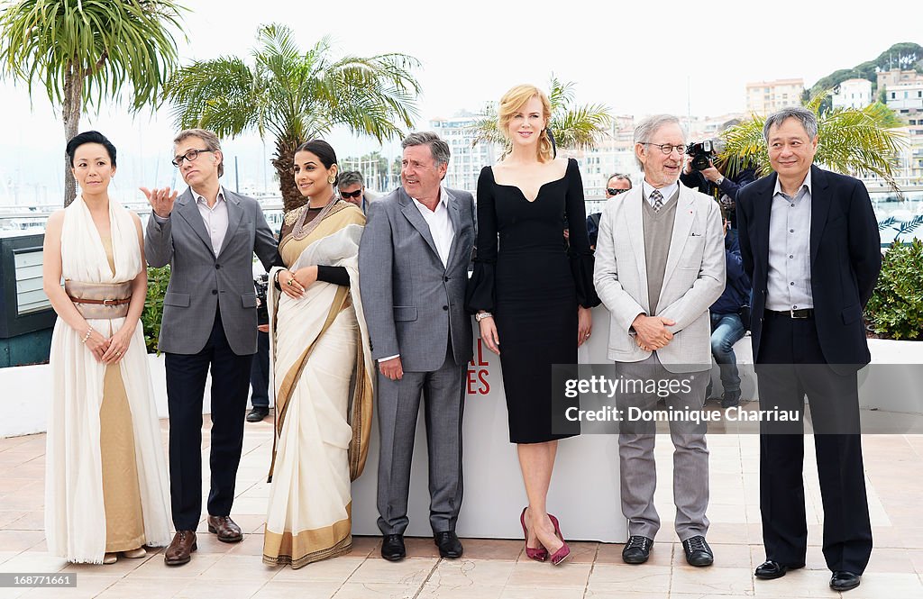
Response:
M642 186L605 203L596 242L593 283L610 313L608 358L640 362L631 323L650 314L644 255ZM657 350L667 370L707 369L712 364L708 308L725 289L725 240L721 210L704 194L679 185L677 215L666 258L657 316L676 320L673 340Z

